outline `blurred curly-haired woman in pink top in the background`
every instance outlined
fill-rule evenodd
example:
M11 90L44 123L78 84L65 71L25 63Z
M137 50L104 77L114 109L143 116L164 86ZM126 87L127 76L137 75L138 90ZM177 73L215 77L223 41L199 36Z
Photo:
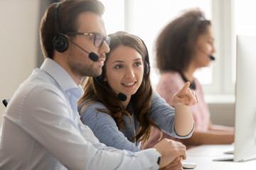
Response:
M199 103L191 106L195 130L188 139L176 139L164 132L152 129L151 137L145 148L159 142L159 139L169 138L182 142L187 147L203 144L230 144L234 141L233 128L212 125L210 111L203 98L201 84L194 77L197 69L208 67L212 54L215 52L214 38L210 21L198 10L191 10L171 21L159 34L156 40L156 64L161 78L156 91L174 106L172 96L187 81L189 88L196 91ZM174 107L175 108L175 107Z

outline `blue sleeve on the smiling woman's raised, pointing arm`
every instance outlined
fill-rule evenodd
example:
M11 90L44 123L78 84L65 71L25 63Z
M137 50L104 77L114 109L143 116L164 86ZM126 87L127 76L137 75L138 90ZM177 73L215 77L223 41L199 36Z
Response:
M175 109L169 106L164 98L161 98L161 96L159 96L155 91L151 101L149 116L163 132L171 135L172 137L186 139L192 135L193 130L191 130L190 134L182 137L176 134L174 130Z

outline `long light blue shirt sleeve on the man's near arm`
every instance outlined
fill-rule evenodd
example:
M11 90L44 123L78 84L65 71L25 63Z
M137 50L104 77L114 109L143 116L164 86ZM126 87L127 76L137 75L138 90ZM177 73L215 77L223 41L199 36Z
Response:
M37 145L46 148L67 169L159 168L156 163L159 152L154 149L134 153L100 144L90 128L81 128L76 122L78 119L70 117L66 101L55 89L39 86L26 96L20 96L23 99L17 103L22 101L22 104L13 108L19 110L14 111L19 113L18 116L6 117L31 135Z

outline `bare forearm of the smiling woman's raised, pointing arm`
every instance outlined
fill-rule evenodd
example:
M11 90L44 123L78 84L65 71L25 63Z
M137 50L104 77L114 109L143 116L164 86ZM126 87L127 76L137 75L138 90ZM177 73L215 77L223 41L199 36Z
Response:
M186 136L193 130L193 115L189 106L175 106L174 128L177 135Z

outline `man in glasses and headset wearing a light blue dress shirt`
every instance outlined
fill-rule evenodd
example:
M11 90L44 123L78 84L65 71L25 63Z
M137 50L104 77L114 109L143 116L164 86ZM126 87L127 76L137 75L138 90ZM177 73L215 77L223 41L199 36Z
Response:
M45 60L6 108L0 169L158 169L186 159L186 147L172 140L136 153L106 147L80 122L80 83L101 74L110 51L103 11L97 0L48 7L40 26Z

